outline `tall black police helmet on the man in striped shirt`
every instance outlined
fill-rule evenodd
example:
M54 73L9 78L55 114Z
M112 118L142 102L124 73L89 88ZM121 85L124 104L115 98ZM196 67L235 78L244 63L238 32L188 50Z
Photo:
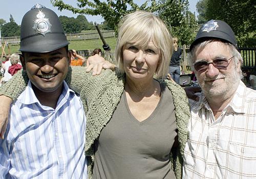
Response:
M19 51L46 53L68 44L60 20L51 9L36 4L24 15Z

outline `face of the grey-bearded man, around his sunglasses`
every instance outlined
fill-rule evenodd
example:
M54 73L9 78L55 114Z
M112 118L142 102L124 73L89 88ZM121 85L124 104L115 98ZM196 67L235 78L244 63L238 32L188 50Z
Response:
M232 55L225 43L214 41L208 43L202 51L196 51L194 63L202 59L212 61L212 59L219 57L229 59ZM240 63L236 68L232 58L228 62L229 65L226 69L217 69L210 63L206 71L195 71L198 83L206 97L231 96L237 89L240 80Z

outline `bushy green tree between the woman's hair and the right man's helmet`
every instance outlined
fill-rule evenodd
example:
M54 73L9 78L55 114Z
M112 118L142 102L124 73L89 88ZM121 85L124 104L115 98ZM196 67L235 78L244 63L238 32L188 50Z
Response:
M158 13L169 27L170 33L177 36L180 45L190 44L195 38L195 15L188 11L188 0L160 0Z

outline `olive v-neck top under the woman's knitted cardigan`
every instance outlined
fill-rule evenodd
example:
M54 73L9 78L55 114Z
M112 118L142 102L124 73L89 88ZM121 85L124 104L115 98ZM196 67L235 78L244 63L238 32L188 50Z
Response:
M142 122L132 115L125 92L95 145L92 178L176 178L169 161L176 133L173 96L161 86L161 98Z

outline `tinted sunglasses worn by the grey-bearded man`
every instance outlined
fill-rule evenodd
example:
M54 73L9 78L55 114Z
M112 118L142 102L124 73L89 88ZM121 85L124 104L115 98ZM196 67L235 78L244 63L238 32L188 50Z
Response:
M208 68L208 65L210 63L212 63L212 65L214 65L214 67L216 69L220 69L220 70L225 70L228 65L229 65L229 60L231 60L234 56L232 56L231 58L229 59L226 59L226 58L214 58L212 59L212 61L206 61L206 60L201 60L201 61L198 61L196 63L193 63L193 66L195 68L196 71L198 72L204 72L207 70Z

